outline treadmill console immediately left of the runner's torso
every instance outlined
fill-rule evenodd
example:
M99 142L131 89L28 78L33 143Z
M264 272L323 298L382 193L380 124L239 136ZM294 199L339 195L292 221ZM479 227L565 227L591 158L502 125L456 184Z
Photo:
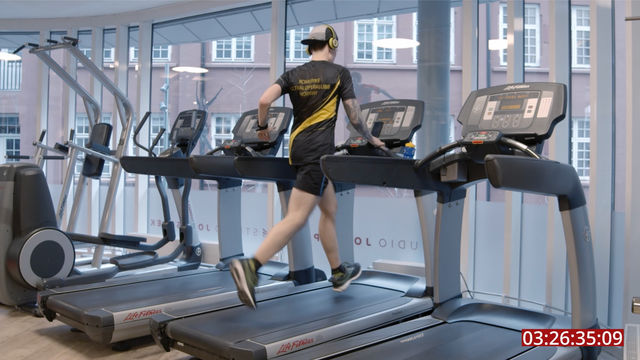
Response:
M222 147L227 153L229 149L237 149L240 145L251 147L262 155L275 155L280 148L284 134L289 129L293 110L287 107L271 107L267 113L269 123L269 141L258 138L258 110L243 113L233 128L233 140L227 140ZM233 155L233 154L228 154Z

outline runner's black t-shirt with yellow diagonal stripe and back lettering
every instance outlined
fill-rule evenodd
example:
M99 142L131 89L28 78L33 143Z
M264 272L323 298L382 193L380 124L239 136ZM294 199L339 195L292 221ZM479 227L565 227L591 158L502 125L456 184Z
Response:
M333 154L340 99L356 97L349 70L328 61L310 61L282 74L276 84L293 104L289 163L309 164Z

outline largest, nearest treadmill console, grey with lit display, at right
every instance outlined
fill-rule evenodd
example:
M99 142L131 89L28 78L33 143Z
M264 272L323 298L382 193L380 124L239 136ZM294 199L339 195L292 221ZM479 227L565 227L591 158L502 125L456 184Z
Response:
M499 131L526 145L549 138L553 127L564 119L566 86L558 83L523 83L494 86L472 92L458 122L462 135Z

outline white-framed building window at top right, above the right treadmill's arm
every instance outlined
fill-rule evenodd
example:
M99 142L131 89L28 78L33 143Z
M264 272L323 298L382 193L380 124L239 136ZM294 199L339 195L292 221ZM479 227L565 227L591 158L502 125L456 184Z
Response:
M571 8L571 62L574 67L588 68L591 58L590 14L588 6Z

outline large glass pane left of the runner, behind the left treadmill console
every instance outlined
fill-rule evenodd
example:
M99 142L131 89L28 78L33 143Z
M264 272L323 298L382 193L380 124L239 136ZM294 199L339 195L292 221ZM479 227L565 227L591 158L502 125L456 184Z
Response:
M243 112L257 108L258 98L270 84L270 25L268 5L154 25L149 139L164 127L167 132L159 148L166 148L171 125L181 111L189 109L208 113L193 154L204 154L230 139L236 120ZM132 60L136 59L135 47L132 53ZM176 66L206 72L177 72L173 70ZM162 212L155 186L149 186L148 198L149 231L158 234ZM216 183L194 181L190 199L192 226L200 241L217 241ZM264 214L267 206L271 204L267 203L266 184L246 181L242 234L247 254L253 254L266 234L266 216L254 215ZM175 211L172 217L177 220Z

